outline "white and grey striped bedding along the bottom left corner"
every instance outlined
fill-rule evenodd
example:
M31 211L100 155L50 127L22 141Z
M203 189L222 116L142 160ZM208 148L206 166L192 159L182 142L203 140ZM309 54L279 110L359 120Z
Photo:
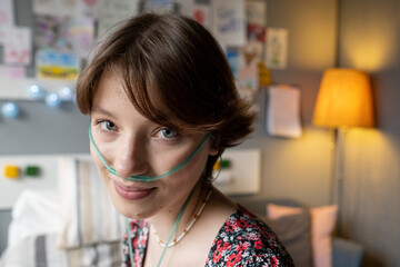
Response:
M29 236L9 248L1 267L120 267L121 243L102 243L80 248L59 249L58 235Z

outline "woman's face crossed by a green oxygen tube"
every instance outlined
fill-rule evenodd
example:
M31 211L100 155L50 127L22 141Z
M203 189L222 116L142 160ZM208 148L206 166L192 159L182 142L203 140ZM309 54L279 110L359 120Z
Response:
M141 219L179 209L199 180L208 156L217 155L217 150L207 141L183 168L170 176L149 182L124 179L170 171L188 158L206 132L178 132L150 121L134 109L120 80L112 72L102 75L90 113L93 140L120 177L107 170L91 146L94 165L123 216Z

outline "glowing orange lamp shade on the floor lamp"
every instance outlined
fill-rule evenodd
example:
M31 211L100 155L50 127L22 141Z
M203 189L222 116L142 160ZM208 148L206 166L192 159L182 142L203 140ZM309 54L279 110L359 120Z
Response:
M373 127L369 76L353 69L323 72L313 123L324 127Z

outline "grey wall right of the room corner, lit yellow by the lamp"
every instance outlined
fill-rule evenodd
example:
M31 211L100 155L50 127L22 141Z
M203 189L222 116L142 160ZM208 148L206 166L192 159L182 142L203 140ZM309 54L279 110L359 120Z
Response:
M341 235L367 250L363 266L400 266L400 1L340 4L340 67L370 73L377 128L350 129L344 145Z

